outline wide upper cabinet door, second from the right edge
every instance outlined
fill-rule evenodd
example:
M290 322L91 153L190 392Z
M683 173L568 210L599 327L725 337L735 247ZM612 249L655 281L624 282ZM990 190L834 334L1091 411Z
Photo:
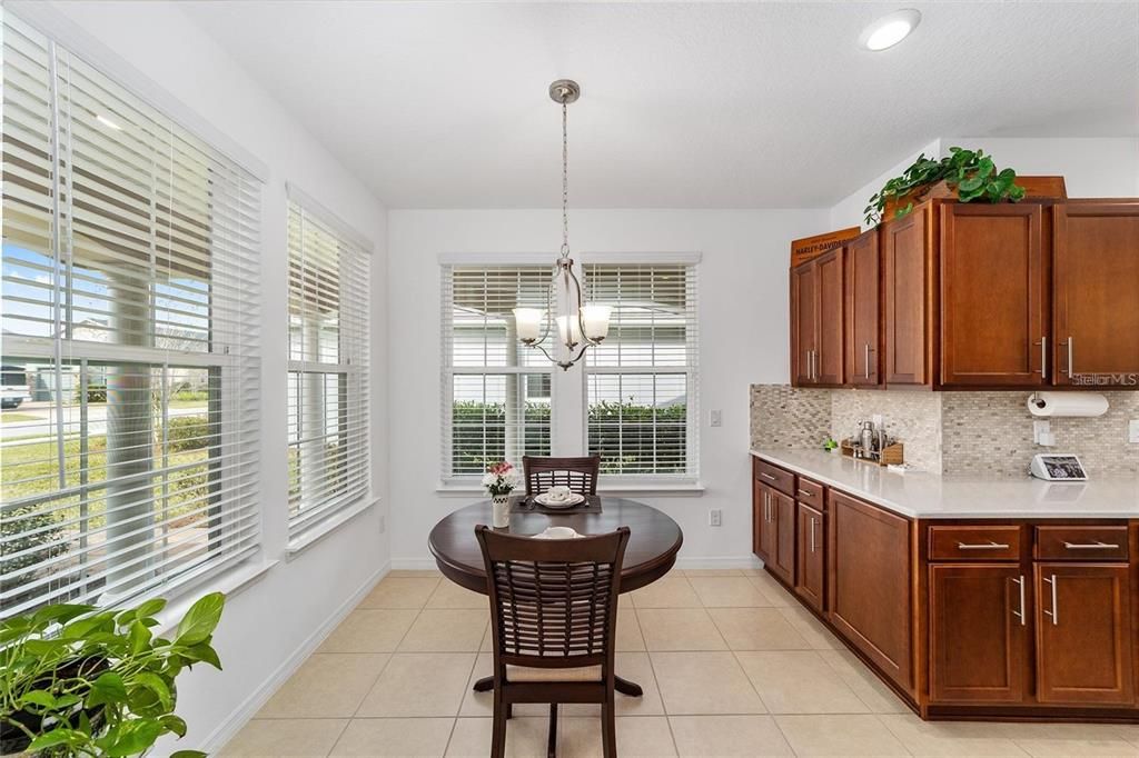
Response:
M1043 208L941 208L941 384L1046 384Z

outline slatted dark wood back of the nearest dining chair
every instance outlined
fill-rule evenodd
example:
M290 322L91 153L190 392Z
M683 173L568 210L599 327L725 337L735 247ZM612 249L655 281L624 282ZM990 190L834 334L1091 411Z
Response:
M539 668L612 662L629 528L534 539L476 527L495 658Z

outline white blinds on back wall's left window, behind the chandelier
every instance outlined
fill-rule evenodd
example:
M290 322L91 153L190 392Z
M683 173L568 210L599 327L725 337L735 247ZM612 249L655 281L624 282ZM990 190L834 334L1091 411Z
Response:
M517 339L514 308L548 310L551 267L444 265L444 478L550 454L551 365Z

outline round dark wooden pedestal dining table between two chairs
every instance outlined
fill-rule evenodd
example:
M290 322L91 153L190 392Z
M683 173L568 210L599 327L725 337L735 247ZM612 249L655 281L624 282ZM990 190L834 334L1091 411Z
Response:
M491 524L491 502L483 501L460 508L444 517L431 530L427 539L435 563L451 582L487 594L486 569L483 554L475 538L475 527ZM603 497L600 512L544 513L519 508L510 514L510 525L501 529L518 535L534 535L551 526L572 527L579 534L607 534L618 527L629 527L621 568L621 592L639 590L669 572L677 562L677 553L685 535L667 514L625 497ZM493 687L491 677L475 683L475 691ZM615 689L626 695L641 694L640 685L616 677Z

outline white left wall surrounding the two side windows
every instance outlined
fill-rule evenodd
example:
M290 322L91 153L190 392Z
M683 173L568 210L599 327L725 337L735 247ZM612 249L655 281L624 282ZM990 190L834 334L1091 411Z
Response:
M165 750L216 748L227 736L221 730L240 726L281 667L295 665L313 635L387 566L387 536L380 534L387 486L385 211L173 3L63 2L57 8L269 167L259 324L264 336L261 491L264 553L280 563L230 598L215 637L224 672L202 667L179 679L178 710L190 731L180 742L163 743ZM372 450L375 494L383 499L292 561L285 560L286 181L376 245Z

